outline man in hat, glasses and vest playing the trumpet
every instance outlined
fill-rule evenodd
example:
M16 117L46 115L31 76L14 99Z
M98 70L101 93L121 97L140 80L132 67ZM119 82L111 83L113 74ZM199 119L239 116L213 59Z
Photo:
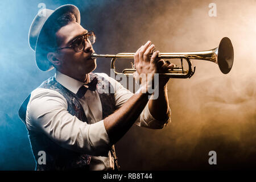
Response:
M160 78L159 97L149 102L148 83L154 82L154 73L174 65L159 60L148 41L134 55L138 75L148 80L141 79L141 89L133 94L106 74L92 73L96 37L80 25L76 6L43 11L46 16L39 13L31 24L29 44L38 68L55 68L56 74L33 90L19 110L36 170L118 169L113 145L133 123L161 129L170 121L168 78ZM106 87L114 92L104 92ZM45 161L39 158L42 151Z

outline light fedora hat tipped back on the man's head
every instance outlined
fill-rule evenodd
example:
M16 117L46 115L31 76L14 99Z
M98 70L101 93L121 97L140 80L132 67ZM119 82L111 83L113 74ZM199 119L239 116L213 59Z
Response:
M44 11L44 16L42 16L42 11ZM80 24L80 12L74 5L63 5L56 10L44 9L42 11L35 16L30 26L28 44L30 48L35 51L35 60L38 68L42 71L49 71L53 69L53 65L47 59L46 47L43 44L47 36L47 32L44 30L46 30L46 27L54 26L55 20L59 18L59 16L69 12L75 15L76 22Z

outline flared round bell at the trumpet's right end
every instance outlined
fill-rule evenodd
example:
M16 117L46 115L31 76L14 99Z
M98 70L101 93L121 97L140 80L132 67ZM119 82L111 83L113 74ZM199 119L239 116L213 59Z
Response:
M217 55L217 64L221 72L224 74L229 73L234 61L234 49L229 38L221 39Z

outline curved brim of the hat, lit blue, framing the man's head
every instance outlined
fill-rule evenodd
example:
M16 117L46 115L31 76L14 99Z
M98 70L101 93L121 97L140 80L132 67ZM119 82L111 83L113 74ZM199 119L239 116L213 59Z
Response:
M79 9L74 5L63 5L53 11L53 13L47 18L42 29L40 30L38 39L36 40L35 60L36 65L42 71L50 71L51 69L53 69L53 65L47 59L46 50L42 47L45 41L45 35L42 35L42 32L46 27L51 26L52 20L56 20L57 18L59 18L59 16L69 12L73 13L76 16L76 22L80 24Z

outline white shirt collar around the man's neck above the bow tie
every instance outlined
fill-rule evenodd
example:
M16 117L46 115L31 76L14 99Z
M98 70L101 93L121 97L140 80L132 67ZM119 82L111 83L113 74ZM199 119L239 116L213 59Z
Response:
M61 85L63 85L65 88L70 90L73 93L77 93L79 88L84 85L83 82L76 80L75 78L69 77L67 75L64 75L63 73L56 71L55 73L55 79L57 82L59 82ZM89 78L90 82L90 78Z

